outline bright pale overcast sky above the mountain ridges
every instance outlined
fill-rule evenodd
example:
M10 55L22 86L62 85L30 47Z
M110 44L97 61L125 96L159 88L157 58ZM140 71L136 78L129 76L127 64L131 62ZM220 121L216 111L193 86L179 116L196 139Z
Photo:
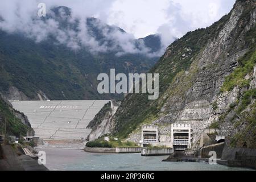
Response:
M68 6L79 15L94 16L141 38L161 31L181 36L184 32L207 27L229 13L235 0L1 0L0 14L11 6L36 9L36 3L47 7ZM7 7L7 8L6 8Z

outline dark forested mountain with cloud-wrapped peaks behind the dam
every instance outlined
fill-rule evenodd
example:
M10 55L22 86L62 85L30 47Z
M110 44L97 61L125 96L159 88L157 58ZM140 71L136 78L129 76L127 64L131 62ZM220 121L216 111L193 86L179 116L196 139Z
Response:
M97 75L110 68L146 72L158 60L158 35L134 39L121 28L96 18L76 19L71 12L56 7L33 19L31 30L0 30L0 92L9 100L122 98L98 94Z

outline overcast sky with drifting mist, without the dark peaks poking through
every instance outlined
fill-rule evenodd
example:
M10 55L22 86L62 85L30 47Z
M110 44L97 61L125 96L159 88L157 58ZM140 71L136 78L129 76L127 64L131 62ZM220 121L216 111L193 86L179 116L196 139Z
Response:
M108 47L99 47L83 24L75 35L72 31L61 31L54 20L36 21L34 17L39 3L46 3L48 13L54 6L70 7L72 17L79 18L80 23L93 16L122 28L129 35L116 32L106 36L114 37L126 52L134 53L138 51L130 44L134 37L160 34L164 50L175 38L196 28L210 26L228 14L235 0L0 0L0 17L4 20L0 22L0 29L4 31L22 31L36 42L54 34L60 43L72 49L80 48L79 44L84 43L94 50L108 51Z

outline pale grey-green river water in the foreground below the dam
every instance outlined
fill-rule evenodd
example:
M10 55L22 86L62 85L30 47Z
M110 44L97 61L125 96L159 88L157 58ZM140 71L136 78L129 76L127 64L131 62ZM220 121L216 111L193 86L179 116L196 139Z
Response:
M46 152L46 167L53 171L156 171L156 170L250 170L246 168L231 168L221 165L210 165L205 162L162 162L168 156L143 157L141 154L96 154L82 150L56 147L43 147Z

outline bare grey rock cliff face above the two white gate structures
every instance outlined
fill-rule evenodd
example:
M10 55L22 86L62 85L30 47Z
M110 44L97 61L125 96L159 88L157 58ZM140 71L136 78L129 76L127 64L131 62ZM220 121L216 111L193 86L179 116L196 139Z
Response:
M158 113L159 119L152 121L154 124L189 123L193 130L193 142L196 143L204 129L209 127L221 113L229 109L229 105L238 99L241 90L234 88L232 92L220 94L220 89L225 77L237 67L238 59L249 50L251 40L247 40L246 36L247 32L255 28L255 14L254 1L236 2L228 20L218 22L217 36L208 39L201 51L191 57L190 67L175 76L170 86L160 94L158 102L151 103L151 105L161 106ZM177 40L179 41L183 41L183 38ZM170 60L171 65L172 57L179 54L175 52L175 46L177 44L174 43L168 47L163 60L156 65L155 70L160 76L161 73L166 73L164 69L168 69L167 67L161 68L161 64ZM181 54L180 60L183 60L186 55L188 57L188 54ZM176 65L170 69L170 72L175 69ZM162 75L162 77L167 77L167 75ZM255 81L252 80L250 85L252 88L255 87ZM137 100L139 100L138 97ZM132 97L127 97L125 102L126 105L132 105L136 101ZM214 102L217 102L217 110L213 109ZM118 121L123 115L125 115L125 107L120 108L114 117L114 123L118 126L124 125ZM223 133L228 132L223 131ZM133 139L133 135L137 136L138 133L132 133L129 138Z

